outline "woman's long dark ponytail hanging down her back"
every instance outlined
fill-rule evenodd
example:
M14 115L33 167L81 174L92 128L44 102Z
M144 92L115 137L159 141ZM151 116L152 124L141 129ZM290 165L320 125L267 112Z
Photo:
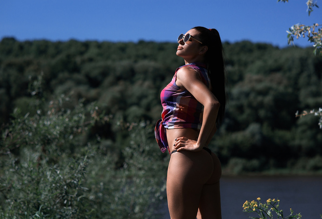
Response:
M220 108L216 122L222 123L223 115L226 107L226 71L223 59L223 49L219 32L216 29L207 29L202 26L196 26L195 29L199 32L198 40L201 45L208 46L205 54L205 62L208 65L208 74L212 87L212 93L217 97Z

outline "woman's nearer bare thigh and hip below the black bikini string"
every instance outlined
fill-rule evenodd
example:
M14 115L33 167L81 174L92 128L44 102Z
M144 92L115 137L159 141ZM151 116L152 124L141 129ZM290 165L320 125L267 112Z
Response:
M171 218L196 219L203 185L213 172L212 163L212 157L204 150L171 155L167 174Z

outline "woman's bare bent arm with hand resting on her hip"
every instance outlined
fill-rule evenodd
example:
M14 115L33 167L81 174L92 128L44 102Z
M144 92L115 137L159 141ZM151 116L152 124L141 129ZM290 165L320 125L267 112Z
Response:
M185 137L177 138L175 149L177 151L201 151L216 132L216 118L220 103L215 95L205 86L199 74L188 67L182 67L177 72L176 84L186 88L202 105L203 120L197 141Z

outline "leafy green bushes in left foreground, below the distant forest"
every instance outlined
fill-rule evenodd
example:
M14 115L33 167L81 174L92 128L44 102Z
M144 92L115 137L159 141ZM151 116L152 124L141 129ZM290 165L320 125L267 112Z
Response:
M35 90L41 77L31 84ZM1 219L158 218L166 160L149 124L116 125L129 133L121 147L88 137L112 118L94 103L68 109L69 96L47 104L32 98L39 102L35 113L16 108L1 128Z

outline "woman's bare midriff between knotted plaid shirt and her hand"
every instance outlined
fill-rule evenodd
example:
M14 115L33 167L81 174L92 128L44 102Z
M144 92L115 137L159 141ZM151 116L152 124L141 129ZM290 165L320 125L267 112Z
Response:
M192 140L197 140L199 136L199 130L191 129L191 128L181 128L181 129L167 129L166 137L168 139L168 145L170 149L170 153L173 152L173 145L176 143L176 138L186 137Z

